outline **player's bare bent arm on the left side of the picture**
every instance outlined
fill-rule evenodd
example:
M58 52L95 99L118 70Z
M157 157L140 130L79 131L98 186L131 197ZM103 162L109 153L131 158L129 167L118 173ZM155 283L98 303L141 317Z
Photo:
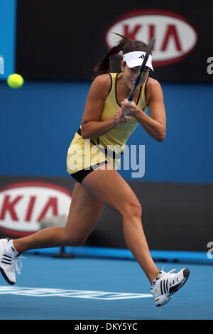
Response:
M87 95L82 118L82 137L92 139L106 134L119 122L119 117L101 121L104 101L109 95L111 80L109 74L99 75L94 79Z

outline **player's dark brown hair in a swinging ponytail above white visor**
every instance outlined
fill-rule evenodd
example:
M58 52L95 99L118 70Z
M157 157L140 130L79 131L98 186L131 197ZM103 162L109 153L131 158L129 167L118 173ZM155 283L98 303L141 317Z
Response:
M125 53L129 53L131 51L144 51L146 52L148 45L141 41L133 41L130 38L120 35L119 33L114 33L117 36L121 37L119 43L113 46L106 55L99 61L99 63L94 67L95 75L101 75L104 73L108 73L111 71L111 62L109 58L112 55L116 55L120 51Z

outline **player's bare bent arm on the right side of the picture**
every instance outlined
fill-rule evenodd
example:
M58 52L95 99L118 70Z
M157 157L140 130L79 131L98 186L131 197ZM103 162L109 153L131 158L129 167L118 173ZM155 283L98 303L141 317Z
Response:
M146 87L146 100L150 109L150 115L134 105L134 112L131 116L135 117L143 129L155 140L163 141L166 133L166 115L163 101L163 92L157 80L149 79ZM126 104L126 103L125 103Z

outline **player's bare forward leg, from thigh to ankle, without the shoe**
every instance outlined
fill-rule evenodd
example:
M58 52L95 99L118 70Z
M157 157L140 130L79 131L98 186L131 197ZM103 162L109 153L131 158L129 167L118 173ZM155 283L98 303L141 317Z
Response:
M133 190L109 165L89 173L82 183L100 202L119 212L126 244L152 283L159 269L148 249L141 222L141 205Z

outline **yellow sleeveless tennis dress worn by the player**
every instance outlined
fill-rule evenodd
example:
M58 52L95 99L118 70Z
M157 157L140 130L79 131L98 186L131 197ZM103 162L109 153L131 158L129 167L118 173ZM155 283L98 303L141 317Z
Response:
M114 114L121 109L121 105L116 99L118 73L109 73L109 75L111 77L111 90L104 102L101 121L114 117ZM136 104L143 112L147 111L146 82L141 87ZM115 169L119 168L121 154L124 153L126 141L136 129L136 126L138 126L138 122L134 117L131 117L126 124L118 124L107 134L93 139L83 139L80 126L67 152L67 172L72 175L82 171L82 169L90 169L90 166L95 167L100 163L104 163L104 161L108 161Z

